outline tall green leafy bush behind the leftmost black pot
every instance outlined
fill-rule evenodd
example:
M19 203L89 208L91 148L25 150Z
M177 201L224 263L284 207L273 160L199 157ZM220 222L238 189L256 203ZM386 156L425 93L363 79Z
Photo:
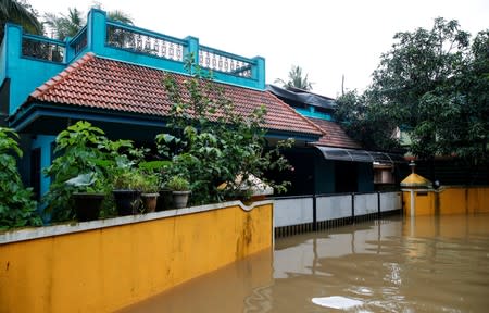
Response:
M121 151L131 149L133 145L129 140L111 141L102 129L85 121L79 121L61 132L55 142L54 153L59 156L43 172L45 175L52 177L43 201L47 204L45 211L51 213L52 221L61 222L75 216L71 200L73 192L88 187L103 193L110 192L112 189L110 178L130 163L128 156ZM92 175L96 180L90 186L66 184L76 177L78 179L88 177L79 175Z

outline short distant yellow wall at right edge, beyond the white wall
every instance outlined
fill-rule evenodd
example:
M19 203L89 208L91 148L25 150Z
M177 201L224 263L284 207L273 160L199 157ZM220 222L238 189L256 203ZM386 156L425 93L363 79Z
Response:
M438 190L402 190L403 209L406 216L437 214L489 213L489 187L447 186ZM411 211L411 195L414 195L414 214Z

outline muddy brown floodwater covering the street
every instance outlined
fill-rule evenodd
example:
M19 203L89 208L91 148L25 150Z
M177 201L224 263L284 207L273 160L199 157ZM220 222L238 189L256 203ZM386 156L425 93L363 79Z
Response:
M121 312L489 312L489 215L281 238Z

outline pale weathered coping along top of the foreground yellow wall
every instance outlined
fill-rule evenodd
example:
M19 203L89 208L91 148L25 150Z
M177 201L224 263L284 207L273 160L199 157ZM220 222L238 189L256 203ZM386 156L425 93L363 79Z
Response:
M244 205L241 201L229 201L229 202L205 204L205 205L190 206L190 208L184 208L184 209L173 209L173 210L160 211L160 212L154 212L154 213L135 214L135 215L127 215L127 216L121 216L121 217L114 217L114 218L96 220L96 221L90 221L90 222L79 222L79 223L73 222L71 224L61 224L61 225L54 225L54 226L14 229L14 230L8 230L4 234L0 234L0 246L7 245L7 243L12 243L12 242L25 241L25 240L40 239L40 238L47 238L47 237L53 237L53 236L61 236L61 235L93 230L93 229L102 229L102 228L106 228L106 227L137 224L137 223L141 223L141 222L153 221L153 220L168 218L168 217L173 217L173 216L180 216L180 215L188 215L188 214L195 214L195 213L213 211L213 210L221 210L221 209L226 209L226 208L230 208L230 206L239 206L239 208L241 208L241 210L243 210L246 212L250 212L251 210L253 210L256 206L272 204L272 203L274 203L273 200L263 200L263 201L253 202L251 205Z

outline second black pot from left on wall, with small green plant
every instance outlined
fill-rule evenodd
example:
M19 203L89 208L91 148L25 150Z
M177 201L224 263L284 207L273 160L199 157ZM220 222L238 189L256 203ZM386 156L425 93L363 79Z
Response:
M112 193L120 216L139 212L142 185L143 177L139 171L126 168L115 174Z

